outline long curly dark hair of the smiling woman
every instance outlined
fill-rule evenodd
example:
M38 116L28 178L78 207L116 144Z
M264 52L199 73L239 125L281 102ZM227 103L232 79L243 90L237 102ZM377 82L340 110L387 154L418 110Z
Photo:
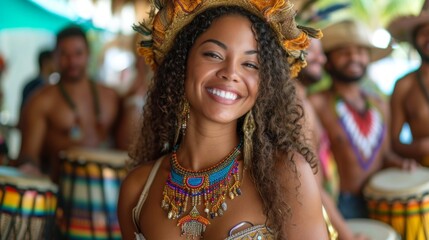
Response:
M179 103L185 95L184 81L188 53L198 38L217 18L239 14L247 17L258 42L260 85L253 115L256 130L253 134L253 157L250 175L264 204L267 224L283 239L281 229L291 209L284 197L276 172L279 161L288 156L286 166L298 177L293 153L302 154L310 166L316 168L314 153L305 143L302 132L303 108L295 95L290 78L287 53L272 28L259 17L239 7L217 7L199 14L177 35L174 46L154 75L144 108L140 136L130 152L134 166L154 161L171 151L180 112ZM238 134L243 124L238 121ZM297 186L298 188L299 186ZM298 193L297 193L298 195ZM286 214L285 214L286 213Z

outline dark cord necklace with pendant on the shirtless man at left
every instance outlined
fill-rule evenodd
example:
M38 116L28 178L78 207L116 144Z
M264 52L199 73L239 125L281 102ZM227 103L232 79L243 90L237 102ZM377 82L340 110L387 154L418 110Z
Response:
M91 86L91 96L92 96L92 102L94 104L95 117L97 120L97 125L99 125L101 111L100 111L100 100L98 97L97 86L94 81L89 81L89 83ZM82 140L83 134L80 127L81 122L80 122L79 113L77 111L77 106L73 102L73 99L70 97L70 95L67 93L66 89L64 88L64 84L61 80L58 82L58 88L60 89L60 93L63 96L64 100L66 101L68 107L73 111L75 115L75 123L73 127L70 129L69 136L74 141Z

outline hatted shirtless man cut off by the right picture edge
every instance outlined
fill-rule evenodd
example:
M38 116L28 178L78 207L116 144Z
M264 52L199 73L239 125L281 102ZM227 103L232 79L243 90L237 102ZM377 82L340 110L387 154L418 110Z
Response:
M398 41L414 46L421 65L397 81L391 97L393 149L404 157L417 159L429 167L429 1L418 16L404 16L392 21L389 31ZM401 143L402 126L408 123L413 136L410 144Z

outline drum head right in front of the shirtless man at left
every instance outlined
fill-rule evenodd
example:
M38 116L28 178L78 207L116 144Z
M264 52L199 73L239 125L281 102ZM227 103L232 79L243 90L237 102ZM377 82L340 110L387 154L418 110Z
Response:
M94 162L116 167L123 167L125 161L129 159L124 151L92 148L71 148L61 152L60 157L68 161Z

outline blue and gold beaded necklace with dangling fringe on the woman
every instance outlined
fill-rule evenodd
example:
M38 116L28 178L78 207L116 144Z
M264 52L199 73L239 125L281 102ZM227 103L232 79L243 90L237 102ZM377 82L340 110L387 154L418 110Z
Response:
M228 209L230 199L241 195L237 157L241 153L242 141L221 162L210 168L191 171L180 166L177 161L176 145L170 158L171 171L164 186L161 207L168 212L169 219L178 219L182 235L187 238L201 238L209 218L222 216ZM191 200L191 211L188 200ZM203 217L197 207L204 204ZM183 216L184 215L184 216Z

